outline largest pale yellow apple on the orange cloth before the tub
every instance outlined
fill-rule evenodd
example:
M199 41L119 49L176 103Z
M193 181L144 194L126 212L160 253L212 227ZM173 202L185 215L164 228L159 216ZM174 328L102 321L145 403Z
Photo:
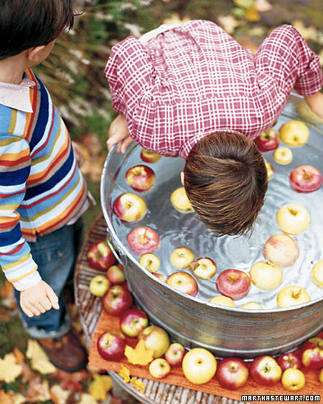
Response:
M216 372L216 359L204 348L193 348L185 353L182 362L184 376L191 383L204 384L212 379Z

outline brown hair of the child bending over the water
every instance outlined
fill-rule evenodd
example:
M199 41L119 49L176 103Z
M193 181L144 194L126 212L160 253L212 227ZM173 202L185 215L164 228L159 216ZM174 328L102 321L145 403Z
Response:
M201 221L217 235L252 230L268 186L255 143L236 133L214 133L190 151L184 167L187 196Z

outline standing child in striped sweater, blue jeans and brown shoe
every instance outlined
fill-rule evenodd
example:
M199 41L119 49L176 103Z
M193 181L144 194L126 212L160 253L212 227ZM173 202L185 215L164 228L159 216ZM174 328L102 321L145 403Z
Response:
M87 363L70 332L63 287L82 240L88 191L67 128L31 67L72 25L70 0L0 3L0 265L27 332L70 372Z

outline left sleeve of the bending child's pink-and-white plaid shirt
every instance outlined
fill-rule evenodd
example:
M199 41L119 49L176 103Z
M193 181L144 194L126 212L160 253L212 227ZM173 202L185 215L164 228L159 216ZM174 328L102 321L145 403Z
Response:
M119 42L111 49L104 72L112 107L126 118L131 134L136 107L151 83L152 65L145 46L132 36Z

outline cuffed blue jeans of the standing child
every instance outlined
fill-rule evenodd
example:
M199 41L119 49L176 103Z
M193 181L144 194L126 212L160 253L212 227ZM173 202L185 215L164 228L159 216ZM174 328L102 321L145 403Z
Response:
M58 338L69 331L71 318L63 298L63 288L67 279L73 277L82 241L81 217L73 225L63 226L45 236L37 236L35 243L29 243L42 280L52 287L59 298L59 310L50 309L39 316L28 317L19 304L20 292L15 290L21 320L31 337Z

